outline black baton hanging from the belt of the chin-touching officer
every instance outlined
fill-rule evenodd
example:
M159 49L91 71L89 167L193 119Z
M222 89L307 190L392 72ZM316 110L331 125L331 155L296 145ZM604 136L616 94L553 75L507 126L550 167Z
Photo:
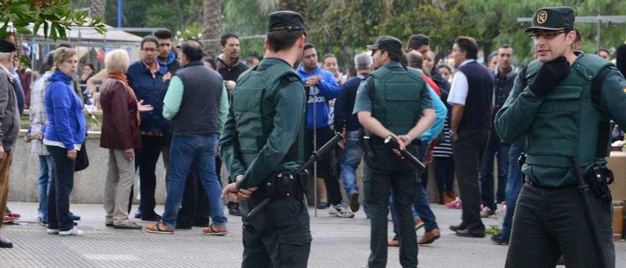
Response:
M578 184L578 187L577 187L578 192L580 193L580 197L583 200L583 207L585 209L585 214L587 214L589 227L592 231L593 244L595 244L595 249L598 254L598 259L600 259L600 268L606 268L607 260L605 259L605 255L602 250L602 242L600 241L600 230L598 229L598 222L593 216L591 197L589 195L589 185L587 184L587 182L585 182L585 178L583 178L583 175L580 172L580 163L578 161L578 155L573 155L572 157L570 157L570 162L572 162L573 175L576 178L576 182Z

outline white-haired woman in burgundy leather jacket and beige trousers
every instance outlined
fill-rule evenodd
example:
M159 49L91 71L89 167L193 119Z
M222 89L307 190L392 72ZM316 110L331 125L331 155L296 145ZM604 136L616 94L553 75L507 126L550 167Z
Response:
M106 54L107 78L100 87L102 134L100 147L109 149L104 207L106 226L116 229L141 229L128 219L128 196L135 178L134 150L141 148L140 111L152 110L141 105L126 80L130 60L124 49Z

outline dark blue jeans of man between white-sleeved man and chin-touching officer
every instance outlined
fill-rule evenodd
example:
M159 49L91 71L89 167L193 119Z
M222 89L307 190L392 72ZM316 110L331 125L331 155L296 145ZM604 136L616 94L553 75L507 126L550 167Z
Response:
M496 210L497 203L505 200L506 180L509 168L509 148L511 145L501 143L500 138L494 137L495 131L491 131L491 138L485 147L483 154L483 165L480 171L480 191L483 205L491 210ZM493 194L493 158L498 160L498 193L496 198Z

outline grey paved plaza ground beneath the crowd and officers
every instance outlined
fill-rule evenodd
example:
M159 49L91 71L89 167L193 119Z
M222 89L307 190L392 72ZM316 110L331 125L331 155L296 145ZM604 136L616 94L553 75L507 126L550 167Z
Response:
M200 228L178 230L173 235L148 234L142 230L116 230L105 227L102 205L72 204L71 210L83 217L78 227L81 237L46 234L36 222L36 203L9 202L22 219L4 225L2 235L14 242L13 249L0 249L0 267L240 267L243 247L241 219L229 216L230 234L225 237L202 235ZM492 244L489 237L457 237L448 226L458 224L461 210L431 204L441 227L442 237L419 247L419 267L485 268L503 267L506 246ZM162 212L159 206L157 212ZM314 215L314 210L310 210ZM485 219L485 225L498 225L504 217ZM142 222L142 225L151 222ZM361 267L369 255L369 220L362 211L353 219L331 217L317 210L311 217L313 242L309 267ZM391 223L389 224L389 235ZM418 235L423 234L418 231ZM617 267L626 267L626 242L615 243ZM389 248L387 267L400 267L398 248Z

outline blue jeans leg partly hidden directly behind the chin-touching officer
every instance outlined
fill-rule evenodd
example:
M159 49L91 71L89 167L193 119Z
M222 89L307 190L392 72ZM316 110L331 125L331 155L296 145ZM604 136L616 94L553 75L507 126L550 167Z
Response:
M511 225L513 225L513 214L515 213L515 204L517 204L517 197L520 195L521 187L524 183L521 181L521 168L517 164L517 158L520 157L520 153L526 149L526 142L520 141L511 145L509 152L509 174L508 182L506 182L506 215L502 224L501 234L506 237L511 235Z

